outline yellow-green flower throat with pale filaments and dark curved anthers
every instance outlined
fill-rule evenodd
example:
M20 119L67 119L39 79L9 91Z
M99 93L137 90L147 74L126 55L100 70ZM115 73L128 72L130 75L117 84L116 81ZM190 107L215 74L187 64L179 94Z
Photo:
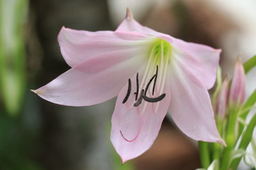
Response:
M134 92L133 106L139 106L143 100L149 103L156 103L164 99L166 94L163 93L163 89L168 63L171 59L171 51L172 46L163 39L158 38L152 43L142 80L140 81L138 78L139 73L136 75L136 92ZM127 101L130 95L131 79L129 78L127 94L123 103Z

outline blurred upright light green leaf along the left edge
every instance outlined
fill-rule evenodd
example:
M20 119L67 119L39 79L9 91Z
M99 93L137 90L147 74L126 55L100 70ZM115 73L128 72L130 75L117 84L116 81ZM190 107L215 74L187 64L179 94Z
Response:
M6 112L17 115L26 87L24 23L28 0L0 1L0 96Z

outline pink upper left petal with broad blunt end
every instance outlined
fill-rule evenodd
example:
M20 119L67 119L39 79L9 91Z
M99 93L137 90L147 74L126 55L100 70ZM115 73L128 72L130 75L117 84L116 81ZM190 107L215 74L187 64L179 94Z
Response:
M145 36L132 32L113 31L78 31L62 27L58 42L61 53L71 67L74 67L90 57L102 53L115 53L120 50L134 50L135 53L143 48L134 42L141 42Z

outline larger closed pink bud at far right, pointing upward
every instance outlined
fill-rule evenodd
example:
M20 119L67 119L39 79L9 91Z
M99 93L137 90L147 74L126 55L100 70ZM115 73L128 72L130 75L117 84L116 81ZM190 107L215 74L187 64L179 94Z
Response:
M234 78L230 87L229 103L232 106L241 106L245 99L245 74L244 67L239 56L236 61Z

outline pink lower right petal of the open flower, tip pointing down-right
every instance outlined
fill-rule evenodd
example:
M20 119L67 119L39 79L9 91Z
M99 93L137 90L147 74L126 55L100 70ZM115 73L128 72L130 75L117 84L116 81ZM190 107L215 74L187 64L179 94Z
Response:
M216 127L207 90L195 76L189 77L183 69L173 62L170 70L172 100L169 110L175 124L195 140L224 143Z

